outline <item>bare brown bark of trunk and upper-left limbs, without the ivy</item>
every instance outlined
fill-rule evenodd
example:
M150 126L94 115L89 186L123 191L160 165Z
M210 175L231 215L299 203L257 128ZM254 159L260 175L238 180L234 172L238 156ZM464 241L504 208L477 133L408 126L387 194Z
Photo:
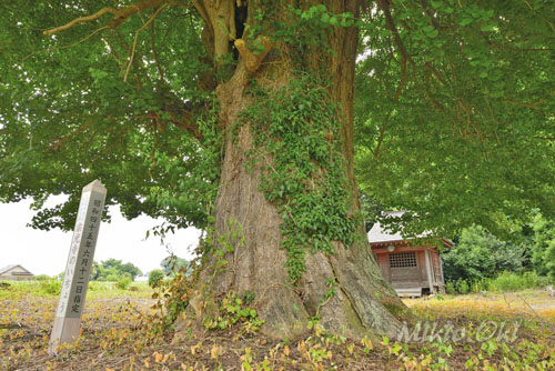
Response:
M351 212L356 213L360 208L353 171L356 29L354 27L327 29L326 47L331 52L312 48L310 51L312 54L302 56L301 66L295 66L294 59L289 58L294 42L285 46L280 43L280 40L271 40L261 34L256 40L265 51L255 53L250 51L248 43L241 37L245 23L254 23L253 14L260 16L265 11L272 11L272 17L280 17L275 16L280 14L275 12L276 8L284 12L289 6L307 9L311 6L325 4L326 11L331 13L349 12L356 17L361 1L191 0L204 20L202 42L214 63L222 69L228 68L224 61L232 48L236 48L235 56L239 57L232 77L222 79L215 90L220 103L221 128L224 132L224 158L215 200L212 241L215 248L225 251L225 254L204 257L201 280L195 295L190 300L200 319L214 315L218 300L226 293L250 292L255 297L253 305L260 319L265 322L262 330L271 337L302 334L307 329L307 321L315 314L319 314L320 324L329 332L351 338L376 333L391 337L398 332L400 321L396 315L406 308L383 279L367 243L349 248L340 241L334 241L332 254L307 252L304 262L305 272L295 282L296 284L290 283L290 274L285 267L287 257L285 251L280 249L283 237L280 234L282 220L278 205L269 202L260 190L266 176L263 170L265 163L248 164L248 153L254 147L253 133L250 122L240 120L240 112L252 104L252 97L246 93L246 88L253 81L262 88L279 90L295 79L295 70L302 70L307 74L314 72L315 76L325 71L325 76L331 79L331 84L325 87L329 100L340 107L341 111L340 120L336 121L340 128L334 130L341 138L333 140L342 143L340 156L344 161L337 162L346 164L344 173L347 181L344 187L351 194ZM170 4L162 3L160 0L142 0L119 10L103 8L92 16L78 18L44 33L52 34L67 30L80 22L95 20L107 12L114 16L109 27L118 27L131 14L160 6L151 17L152 20L161 7ZM271 29L271 24L266 26ZM272 48L276 52L272 53L270 51ZM302 54L300 50L293 53ZM329 104L330 101L322 104ZM307 120L306 126L311 124ZM186 124L182 127L189 128ZM198 130L191 130L191 133L199 134ZM327 138L330 136L323 132L321 134ZM266 164L272 164L272 156L266 154L263 157L264 161ZM231 221L239 222L242 230L241 238L229 238ZM360 233L360 240L366 240L362 223L355 233ZM221 238L226 241L222 242ZM222 261L225 261L223 267L220 265ZM325 298L329 292L326 281L330 279L337 284L336 294Z

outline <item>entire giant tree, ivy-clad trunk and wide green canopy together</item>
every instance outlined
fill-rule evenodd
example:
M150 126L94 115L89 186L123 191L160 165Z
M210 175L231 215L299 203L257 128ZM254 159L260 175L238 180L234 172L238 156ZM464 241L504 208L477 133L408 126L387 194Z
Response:
M70 229L98 178L127 218L204 229L198 312L251 292L271 335L314 318L396 334L355 162L408 232L555 213L548 1L110 6L2 3L0 200L32 197L36 227Z

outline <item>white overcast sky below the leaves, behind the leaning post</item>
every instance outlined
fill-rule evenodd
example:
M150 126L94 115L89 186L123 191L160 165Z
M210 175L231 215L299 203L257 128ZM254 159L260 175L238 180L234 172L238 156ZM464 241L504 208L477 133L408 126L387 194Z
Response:
M60 203L63 198L51 198L47 204ZM0 268L21 264L33 274L54 275L65 269L72 232L59 229L46 232L26 227L34 214L30 200L18 203L0 203ZM100 227L94 260L110 258L132 262L143 273L160 268L160 261L169 255L168 247L157 237L144 240L147 230L161 223L152 218L124 219L118 207L110 208L112 221ZM173 252L191 259L200 231L194 228L169 235L165 243Z

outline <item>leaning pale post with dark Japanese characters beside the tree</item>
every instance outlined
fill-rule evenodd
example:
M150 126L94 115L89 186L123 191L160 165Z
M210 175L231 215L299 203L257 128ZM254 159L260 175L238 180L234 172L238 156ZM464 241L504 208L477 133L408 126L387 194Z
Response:
M49 355L56 354L58 345L73 343L79 337L105 194L107 189L99 180L87 184L81 193L62 291L48 344Z

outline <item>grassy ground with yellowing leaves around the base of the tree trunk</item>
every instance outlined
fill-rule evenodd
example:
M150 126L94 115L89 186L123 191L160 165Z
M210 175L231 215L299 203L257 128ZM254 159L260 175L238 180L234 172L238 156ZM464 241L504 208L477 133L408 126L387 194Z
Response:
M403 339L310 331L266 339L229 330L149 332L152 290L94 283L79 341L47 355L58 295L41 282L0 289L0 370L555 370L555 299L539 290L411 299ZM411 339L407 339L411 338ZM410 340L410 341L407 341Z

